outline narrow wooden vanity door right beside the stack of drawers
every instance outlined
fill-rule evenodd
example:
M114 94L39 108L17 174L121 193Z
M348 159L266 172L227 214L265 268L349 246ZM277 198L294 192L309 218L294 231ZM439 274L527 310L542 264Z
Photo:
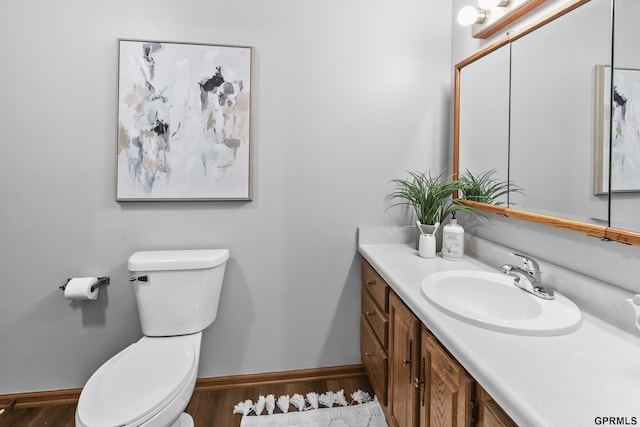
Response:
M389 352L391 360L390 410L394 427L417 425L418 406L415 381L415 361L418 360L418 319L395 295L389 297L391 336Z

